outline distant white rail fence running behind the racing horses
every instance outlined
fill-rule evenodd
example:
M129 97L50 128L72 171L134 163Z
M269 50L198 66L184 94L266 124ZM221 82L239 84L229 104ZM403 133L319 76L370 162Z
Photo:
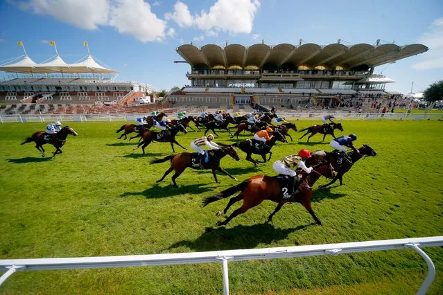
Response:
M189 113L198 116L200 113ZM279 113L290 120L320 120L327 113ZM1 115L0 122L48 122L60 120L65 122L100 122L100 121L133 121L144 114L38 114L38 115ZM336 120L443 120L443 114L406 114L406 113L334 113Z

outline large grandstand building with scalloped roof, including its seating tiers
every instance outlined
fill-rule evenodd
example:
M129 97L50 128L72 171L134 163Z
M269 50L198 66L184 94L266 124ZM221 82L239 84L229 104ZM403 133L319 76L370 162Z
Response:
M189 86L164 102L177 105L232 106L339 105L345 98L383 96L385 84L395 82L374 75L374 67L428 51L422 44L376 46L356 44L230 44L176 48L191 66Z

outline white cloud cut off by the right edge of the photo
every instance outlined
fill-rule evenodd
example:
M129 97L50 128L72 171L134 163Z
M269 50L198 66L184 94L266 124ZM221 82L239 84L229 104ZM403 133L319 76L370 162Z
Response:
M443 18L435 19L428 31L419 38L419 43L428 46L421 62L412 64L416 70L443 69Z

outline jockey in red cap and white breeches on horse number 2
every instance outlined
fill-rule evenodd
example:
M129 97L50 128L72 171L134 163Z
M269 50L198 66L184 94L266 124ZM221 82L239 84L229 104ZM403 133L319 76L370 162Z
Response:
M279 161L275 161L272 165L272 169L274 169L275 172L294 178L292 192L290 192L293 196L297 193L298 177L297 173L290 168L297 166L298 168L302 168L304 172L308 174L311 173L312 167L307 168L306 164L304 163L304 161L308 158L311 158L311 153L309 150L303 149L300 150L298 154L293 154L288 157L284 157L283 159L279 159ZM284 193L283 199L290 199L290 193Z

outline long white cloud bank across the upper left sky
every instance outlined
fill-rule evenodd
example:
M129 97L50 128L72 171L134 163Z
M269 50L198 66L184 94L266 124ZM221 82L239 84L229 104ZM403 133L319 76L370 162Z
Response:
M166 21L151 12L150 4L144 0L26 0L15 5L87 30L112 26L141 42L159 42L175 35L175 30L166 33Z

